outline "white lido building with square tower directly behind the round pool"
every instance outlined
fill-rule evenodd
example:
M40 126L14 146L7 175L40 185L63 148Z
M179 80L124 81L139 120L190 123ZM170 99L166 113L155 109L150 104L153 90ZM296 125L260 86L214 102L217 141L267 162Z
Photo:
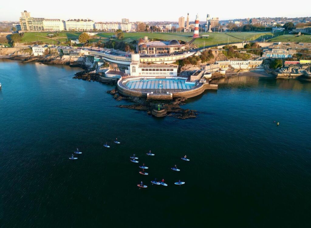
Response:
M131 77L140 76L177 76L178 65L176 64L160 64L160 63L140 63L139 54L132 54L132 62L130 69L126 73L130 73Z

